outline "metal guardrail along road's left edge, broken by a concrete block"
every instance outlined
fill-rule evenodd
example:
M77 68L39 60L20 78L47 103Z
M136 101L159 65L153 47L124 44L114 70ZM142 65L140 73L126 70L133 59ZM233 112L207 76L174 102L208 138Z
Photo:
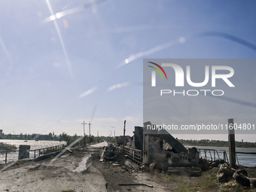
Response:
M61 151L65 148L65 145L56 145L56 146L52 146L52 147L48 147L48 148L38 148L38 149L33 149L33 150L29 150L33 152L34 154L34 159L35 157L39 157L41 155L44 154L50 154L51 152L55 152L55 151ZM1 154L5 154L5 160L0 160L0 161L4 161L5 163L8 162L8 154L11 152L19 152L18 150L5 150L5 151L0 151ZM17 154L18 156L18 154ZM30 157L30 155L29 155Z

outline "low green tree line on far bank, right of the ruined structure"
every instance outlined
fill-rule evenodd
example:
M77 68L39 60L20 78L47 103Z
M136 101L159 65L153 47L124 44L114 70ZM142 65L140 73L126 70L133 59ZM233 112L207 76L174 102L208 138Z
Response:
M213 147L228 147L228 142L219 141L219 140L209 140L209 139L201 139L201 140L184 140L178 139L179 142L183 145L194 145L197 146L213 146ZM256 148L256 142L236 142L236 148Z

